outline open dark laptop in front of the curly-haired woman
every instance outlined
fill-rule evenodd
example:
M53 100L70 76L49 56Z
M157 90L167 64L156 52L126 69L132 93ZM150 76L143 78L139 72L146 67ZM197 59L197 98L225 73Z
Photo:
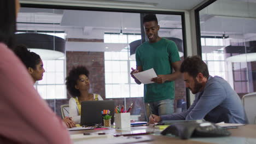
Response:
M114 100L92 100L81 103L81 125L96 125L102 123L103 110L110 110L111 123L114 123Z

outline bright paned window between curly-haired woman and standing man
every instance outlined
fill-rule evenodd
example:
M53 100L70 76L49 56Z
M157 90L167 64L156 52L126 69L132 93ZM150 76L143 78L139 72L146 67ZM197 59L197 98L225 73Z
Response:
M134 84L130 76L131 64L128 63L135 61L129 60L129 52L127 49L121 52L104 52L106 98L143 97L143 87L141 88L137 83ZM109 58L109 55L120 57L119 59Z

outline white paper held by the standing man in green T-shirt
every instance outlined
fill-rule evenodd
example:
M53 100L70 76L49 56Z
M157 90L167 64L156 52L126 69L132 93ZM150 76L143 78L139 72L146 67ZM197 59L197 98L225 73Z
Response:
M157 77L153 68L133 75L143 84L154 83L151 79Z

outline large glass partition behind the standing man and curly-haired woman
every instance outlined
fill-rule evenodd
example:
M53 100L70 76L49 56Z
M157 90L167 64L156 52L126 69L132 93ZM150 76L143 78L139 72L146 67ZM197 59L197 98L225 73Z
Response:
M84 65L90 72L91 93L100 94L104 100L115 100L115 105L125 104L126 108L133 103L131 115L135 116L132 118L145 121L143 85L137 85L130 76L131 68L136 68L133 53L137 48L131 47L131 43L145 38L141 25L143 15L113 11L21 8L18 33L48 34L66 40L64 57L42 58L45 73L43 80L35 84L41 97L57 115L61 116L60 106L68 104L71 97L65 86L69 70ZM160 37L176 42L183 60L182 15L156 16ZM40 56L43 55L48 54L42 53ZM176 112L186 110L185 101L183 79L176 80Z

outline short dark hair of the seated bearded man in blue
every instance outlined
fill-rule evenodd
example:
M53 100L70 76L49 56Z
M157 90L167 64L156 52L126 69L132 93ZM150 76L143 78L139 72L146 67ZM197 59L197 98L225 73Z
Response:
M191 56L184 59L180 68L181 73L187 72L194 79L199 73L208 79L209 71L205 62L200 56Z

